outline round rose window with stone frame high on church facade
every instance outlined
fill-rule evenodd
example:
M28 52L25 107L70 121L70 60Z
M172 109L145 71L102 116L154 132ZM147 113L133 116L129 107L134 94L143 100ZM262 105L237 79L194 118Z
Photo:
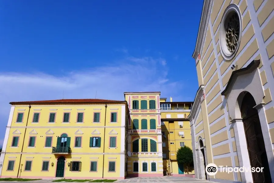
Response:
M221 54L230 60L237 53L242 36L242 16L236 4L230 4L225 10L219 31Z

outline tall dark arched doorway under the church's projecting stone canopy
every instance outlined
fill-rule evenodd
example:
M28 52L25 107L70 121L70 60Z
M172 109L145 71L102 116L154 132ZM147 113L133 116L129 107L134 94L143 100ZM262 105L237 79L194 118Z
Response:
M254 106L256 106L256 102L253 96L247 92L241 103L241 117L244 124L250 165L251 167L264 167L263 172L253 172L252 178L254 182L268 183L272 182L269 164L258 111L253 108Z

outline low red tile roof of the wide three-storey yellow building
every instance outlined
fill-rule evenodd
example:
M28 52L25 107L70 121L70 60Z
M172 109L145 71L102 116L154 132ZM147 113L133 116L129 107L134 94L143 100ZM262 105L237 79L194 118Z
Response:
M125 103L125 100L105 100L105 99L59 99L59 100L40 100L40 101L24 101L9 102L16 104L71 104L71 103Z

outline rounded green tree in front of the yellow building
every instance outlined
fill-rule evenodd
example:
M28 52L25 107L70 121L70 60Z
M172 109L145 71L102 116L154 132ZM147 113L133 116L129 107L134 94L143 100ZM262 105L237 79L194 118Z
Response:
M186 170L187 173L193 169L190 167L190 164L193 164L193 152L188 146L185 145L178 149L176 155L178 164L186 164L184 170Z

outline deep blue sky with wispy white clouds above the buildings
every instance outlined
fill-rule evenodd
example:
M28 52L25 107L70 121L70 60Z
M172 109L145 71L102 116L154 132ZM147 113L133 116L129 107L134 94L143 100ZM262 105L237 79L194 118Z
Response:
M0 144L11 101L123 100L161 91L193 101L202 0L1 1Z

